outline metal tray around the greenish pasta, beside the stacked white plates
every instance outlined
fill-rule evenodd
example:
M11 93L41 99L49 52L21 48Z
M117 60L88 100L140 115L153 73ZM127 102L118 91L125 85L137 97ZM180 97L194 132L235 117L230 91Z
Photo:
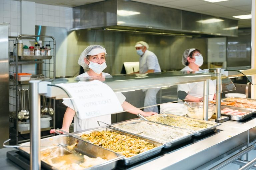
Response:
M206 123L206 124L210 125L210 127L202 129L202 130L192 130L192 131L197 132L194 134L194 136L202 136L204 134L210 133L210 132L214 131L217 126L221 125L221 123L217 123L217 122L205 121L205 120L194 119L194 118L189 118L189 117L184 117L184 116L177 116L177 115L172 115L172 114L157 114L157 115L148 116L148 117L146 117L146 119L148 119L151 122L159 123L156 120L158 117L165 117L165 118L166 117L178 117L178 118L183 118L183 119L185 118L185 119L197 121L200 124ZM162 124L162 123L159 123L159 124ZM162 124L162 125L166 125L166 124ZM177 127L177 126L172 126L172 125L168 125L168 126ZM180 127L177 127L177 128L180 128ZM181 128L181 129L191 130L188 128Z

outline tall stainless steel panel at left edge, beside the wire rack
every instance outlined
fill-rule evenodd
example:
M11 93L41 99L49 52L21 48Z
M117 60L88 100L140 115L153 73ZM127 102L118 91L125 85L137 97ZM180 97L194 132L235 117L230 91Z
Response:
M9 138L8 24L0 24L0 143ZM3 148L0 145L0 148Z

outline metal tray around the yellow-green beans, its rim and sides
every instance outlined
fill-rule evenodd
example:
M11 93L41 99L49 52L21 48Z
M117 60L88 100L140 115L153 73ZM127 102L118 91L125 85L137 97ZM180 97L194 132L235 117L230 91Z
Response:
M134 138L141 138L143 139L144 141L146 142L149 142L151 144L154 144L155 145L155 148L153 149L150 149L148 151L145 151L145 152L142 152L142 153L139 153L135 156L131 156L131 157L124 157L122 158L121 160L119 160L123 165L132 165L136 162L139 162L139 161L142 161L146 158L149 158L153 155L156 155L158 153L161 152L161 149L164 147L164 143L163 142L156 142L154 140L150 140L150 139L147 139L145 137L141 137L139 135L135 135L135 134L132 134L132 133L129 133L129 132L125 132L125 131L122 131L122 130L117 130L117 129L114 129L114 128L110 128L110 127L104 127L104 128L96 128L96 129L93 129L93 130L89 130L89 131L84 131L84 132L81 132L81 133L77 133L75 135L77 136L81 136L82 134L89 134L91 133L92 131L103 131L103 130L109 130L109 131L113 131L113 132L117 132L119 134L123 134L123 135L127 135L127 136L131 136L131 137L134 137Z

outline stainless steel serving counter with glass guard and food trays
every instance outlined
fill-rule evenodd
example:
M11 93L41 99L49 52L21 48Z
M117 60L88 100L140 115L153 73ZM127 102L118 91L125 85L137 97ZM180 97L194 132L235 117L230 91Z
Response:
M106 77L104 83L111 87L112 90L116 93L150 88L163 88L183 83L194 83L200 81L205 82L204 87L207 88L207 80L210 79L220 80L222 92L227 92L235 89L234 84L228 78L228 75L224 75L218 72L192 73L175 71L150 73L148 74L148 77L142 79L136 79L135 77L136 76L132 74L116 75ZM80 81L93 80L67 78L47 82L31 82L31 98L34 99L31 100L31 111L34 112L33 114L36 115L39 108L38 103L40 103L39 94L55 99L70 97L69 93L66 93L65 90L63 88L60 88L58 84L76 83ZM210 94L207 89L204 90L204 99L206 99L208 98L207 96ZM217 102L220 103L221 101L216 101L216 103ZM159 103L159 105L160 104L161 103ZM220 108L216 108L216 115L221 114L220 112L218 113L218 110L221 110L221 105L219 105L219 107ZM143 106L138 108L143 108ZM205 100L203 110L204 111L202 113L202 119L208 118L208 102L205 103ZM255 117L253 116L254 110L251 109L250 111L252 117L248 116L247 118L243 118L238 121L229 120L221 123L219 121L216 122L215 119L199 120L186 116L182 117L171 114L158 114L146 117L147 120L138 118L130 121L112 124L111 126L106 125L100 128L93 128L74 132L71 135L72 137L75 136L75 138L79 140L76 144L77 147L75 147L74 149L79 153L88 155L88 152L86 153L86 151L79 149L78 146L80 146L81 143L83 145L92 145L95 148L99 147L103 150L106 149L107 151L111 150L112 155L113 153L115 153L116 156L113 159L115 159L116 163L111 164L111 166L114 165L114 167L111 167L110 169L216 169L215 166L223 167L224 165L235 161L237 158L243 156L244 154L255 148L255 145L251 143L253 143L256 138L256 119L254 119ZM174 124L168 124L168 122L162 121L159 118L164 120L178 119L179 121L185 119L186 123L183 125L187 125L188 121L193 122L193 124L191 125L192 128L187 128L184 126L179 127ZM25 169L28 169L29 165L30 167L35 168L38 168L42 165L41 169L51 169L53 168L52 164L49 165L48 163L45 163L45 161L42 161L41 164L40 157L42 159L42 154L40 155L40 152L42 152L42 148L56 147L56 145L59 144L60 146L57 147L61 148L61 145L73 145L75 140L69 143L67 143L66 141L57 143L53 142L55 141L55 139L66 138L67 136L70 136L66 134L40 140L40 133L36 133L38 130L38 124L36 122L38 121L38 118L35 117L34 119L32 119L32 121L34 122L32 122L33 128L31 130L34 130L34 132L32 131L31 134L33 134L34 136L31 136L31 143L27 142L17 145L17 147L21 148L18 148L19 150L12 150L7 152L7 157L15 163L21 165ZM129 124L134 126L136 124L136 126L138 126L138 124L142 122L144 124L148 124L148 129L150 129L150 126L154 126L154 129L159 128L159 133L163 132L165 128L169 128L173 131L179 131L182 134L180 134L180 136L178 137L174 137L174 139L167 136L167 139L165 140L150 136L150 134L146 132L147 128L141 128L143 130L139 129L137 133L136 131L129 131L125 129L124 126L129 126ZM148 142L146 144L148 150L140 149L134 155L129 153L130 155L128 154L128 156L126 154L122 154L122 152L118 150L118 146L115 146L115 148L113 148L113 146L107 145L109 144L109 140L100 139L100 136L104 136L106 135L106 133L109 132L111 132L111 137L124 135L126 137L129 136L129 138L134 138L134 140L141 139L144 142ZM112 132L115 133L112 134ZM93 135L95 135L94 133L96 133L96 136L98 137L92 137ZM47 142L44 142L43 140L47 140ZM113 138L113 140L115 139ZM153 148L150 148L149 144L153 145ZM31 146L30 150L28 150L28 148L24 149L24 146ZM236 155L235 158L232 158L234 154L238 155ZM101 157L104 157L103 159L107 159L106 154L103 154L103 152L99 155ZM97 157L97 155L95 154L89 154L88 156L94 158ZM230 157L232 158L232 161L224 160L224 162L222 162L223 159L228 159ZM107 160L107 162L111 162L110 159ZM246 160L239 161L240 165L248 163L248 161L246 162ZM98 166L102 168L104 167L103 165L104 163L101 165L96 165L95 168L97 168Z

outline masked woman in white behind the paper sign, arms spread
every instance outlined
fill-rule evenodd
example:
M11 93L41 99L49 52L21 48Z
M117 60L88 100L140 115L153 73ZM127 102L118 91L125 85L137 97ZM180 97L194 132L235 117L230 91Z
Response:
M78 64L81 65L84 69L89 67L89 70L77 77L92 77L94 79L101 79L102 76L110 75L108 73L103 73L102 71L107 67L105 61L106 50L100 45L90 45L88 46L80 55L78 59ZM142 114L144 116L150 116L157 113L154 112L144 112L130 103L125 101L125 96L122 93L116 93L117 98L122 105L124 110L130 110L129 113L132 114ZM99 125L97 121L103 121L105 123L111 124L111 115L104 115L89 119L79 119L76 114L74 107L70 100L64 100L63 104L67 106L67 110L64 114L62 130L69 132L69 126L74 118L74 131L85 130L88 128L95 128ZM52 129L50 133L54 133L55 130Z

